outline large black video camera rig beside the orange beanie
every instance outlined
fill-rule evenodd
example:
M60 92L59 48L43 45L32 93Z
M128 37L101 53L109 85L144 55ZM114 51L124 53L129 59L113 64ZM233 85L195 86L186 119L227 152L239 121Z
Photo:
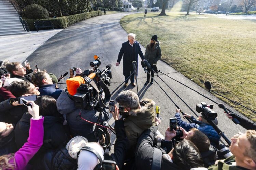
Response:
M98 106L108 107L111 96L108 88L112 78L111 64L108 64L104 70L98 69L100 64L100 58L94 55L94 61L90 62L90 66L94 68L82 73L85 83L77 88L77 93L73 96L75 107L87 110L93 110ZM102 97L103 92L104 98Z

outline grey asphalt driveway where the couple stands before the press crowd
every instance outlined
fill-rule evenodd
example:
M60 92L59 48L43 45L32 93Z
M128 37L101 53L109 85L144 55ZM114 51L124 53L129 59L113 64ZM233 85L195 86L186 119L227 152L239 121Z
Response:
M127 13L124 15L127 15ZM107 64L112 64L111 70L113 78L111 79L112 85L109 88L110 91L113 91L121 82L124 81L124 76L122 74L123 63L121 62L118 67L115 66L122 43L127 41L127 33L120 26L119 21L119 14L111 14L90 18L76 23L47 40L41 47L34 51L27 58L27 60L30 63L37 63L39 69L41 70L45 69L47 72L60 76L60 74L69 71L69 68L73 67L79 67L82 70L90 69L91 67L89 63L94 60L93 56L98 55L102 61L100 66L101 69L105 68ZM141 49L144 53L145 48L141 46ZM141 61L140 58L139 61ZM164 62L159 61L157 66L158 70L168 74L170 77L186 84L217 103L223 103L227 108L233 110L227 104L221 100L218 100L216 97L209 94L208 91L199 87ZM194 112L196 112L196 104L200 104L201 102L214 104L210 100L202 97L196 92L175 82L165 75L160 75L160 77L177 93L177 95L179 95L191 108L193 108ZM66 78L68 78L68 76ZM185 113L194 115L188 109L188 107L165 85L165 83L163 83L157 76L154 78L162 89L167 92L170 98ZM153 99L156 102L156 105L161 107L160 117L162 118L162 123L158 129L164 135L165 130L169 126L169 118L174 117L175 105L161 90L161 88L159 88L156 82L154 82L153 85L144 86L145 82L146 74L143 69L139 67L139 97L140 99ZM65 88L66 86L61 85L60 87ZM113 94L112 100L116 98L119 92L128 89L137 92L136 87L134 88L129 85L128 87L124 88L122 86ZM230 119L228 119L223 113L223 110L220 109L216 104L214 104L213 110L218 113L218 127L228 138L232 137L238 131L245 132L245 129L243 129L240 125L235 125ZM199 113L197 114L200 115ZM241 115L240 113L238 114ZM113 118L109 120L109 123L114 125ZM112 136L112 139L114 139L114 136Z

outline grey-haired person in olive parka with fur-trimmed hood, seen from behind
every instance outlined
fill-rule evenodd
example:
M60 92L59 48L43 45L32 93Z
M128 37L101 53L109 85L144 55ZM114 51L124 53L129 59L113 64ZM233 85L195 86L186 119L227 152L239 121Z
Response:
M150 99L143 99L139 102L139 97L136 93L126 90L121 92L116 102L122 105L125 113L122 118L124 119L125 132L129 141L129 157L134 155L134 149L138 137L142 132L155 124L155 102Z

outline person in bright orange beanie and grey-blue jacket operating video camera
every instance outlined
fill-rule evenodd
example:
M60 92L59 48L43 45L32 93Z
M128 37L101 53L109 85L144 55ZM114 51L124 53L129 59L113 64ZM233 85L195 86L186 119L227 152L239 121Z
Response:
M85 110L75 107L73 95L76 94L77 88L81 84L85 84L85 80L80 76L76 76L68 80L67 90L61 92L56 102L58 111L60 114L66 115L72 137L84 136L89 142L95 142L93 123L97 122L100 112L97 110ZM84 119L93 123L82 120L79 117L80 113ZM109 119L109 115L109 110L103 108L100 122L107 121Z

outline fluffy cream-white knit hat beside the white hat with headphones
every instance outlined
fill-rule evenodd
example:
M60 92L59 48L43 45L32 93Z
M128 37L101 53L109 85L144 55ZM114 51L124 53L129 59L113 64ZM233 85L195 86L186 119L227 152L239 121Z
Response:
M66 145L66 149L69 152L69 155L73 159L77 159L77 153L81 148L85 147L88 144L88 140L83 136L73 137Z

